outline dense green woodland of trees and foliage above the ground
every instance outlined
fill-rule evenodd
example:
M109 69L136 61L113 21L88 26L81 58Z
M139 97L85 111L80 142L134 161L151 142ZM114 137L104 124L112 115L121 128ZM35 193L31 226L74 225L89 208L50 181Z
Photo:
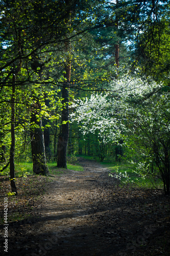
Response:
M0 165L67 156L126 162L169 195L168 1L22 0L0 6ZM120 176L120 174L118 174Z

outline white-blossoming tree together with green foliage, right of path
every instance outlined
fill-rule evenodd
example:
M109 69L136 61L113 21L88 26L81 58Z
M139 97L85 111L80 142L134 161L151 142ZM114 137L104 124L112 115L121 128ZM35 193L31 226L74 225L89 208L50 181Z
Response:
M85 136L98 140L96 155L103 160L108 144L126 147L125 157L136 170L153 174L169 195L169 91L150 80L125 77L113 82L111 93L95 94L77 100L71 121L77 122ZM104 145L102 147L102 145Z

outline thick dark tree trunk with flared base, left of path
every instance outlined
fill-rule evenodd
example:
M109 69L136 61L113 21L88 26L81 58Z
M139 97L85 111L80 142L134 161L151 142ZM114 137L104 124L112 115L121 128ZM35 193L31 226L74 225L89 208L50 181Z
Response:
M49 175L49 170L46 164L45 157L45 145L44 145L44 135L42 131L42 121L41 118L37 118L41 110L41 105L39 102L32 106L31 110L31 149L32 149L32 159L33 159L33 172L35 174L42 174L45 176Z

